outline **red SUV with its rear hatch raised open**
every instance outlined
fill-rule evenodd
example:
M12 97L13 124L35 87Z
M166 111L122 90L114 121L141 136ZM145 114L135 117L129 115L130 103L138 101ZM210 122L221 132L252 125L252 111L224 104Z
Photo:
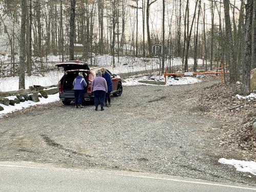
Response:
M82 61L66 61L56 65L57 67L64 68L64 75L59 80L59 98L62 100L63 104L70 104L74 101L74 91L73 91L73 81L79 72L83 73L84 79L86 79L87 87L83 93L83 101L93 100L94 96L91 90L91 83L94 77L96 77L96 72L101 69L101 67L89 68L87 63ZM112 80L112 92L114 96L120 96L122 94L122 81L120 76L111 73L109 70L106 71L111 75Z

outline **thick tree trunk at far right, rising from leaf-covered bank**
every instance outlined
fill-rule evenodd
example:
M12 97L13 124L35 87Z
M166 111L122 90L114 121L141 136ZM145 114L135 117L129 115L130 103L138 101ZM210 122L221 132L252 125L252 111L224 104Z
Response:
M250 71L251 71L251 22L253 14L253 0L247 0L245 6L245 59L242 71L241 95L250 94Z

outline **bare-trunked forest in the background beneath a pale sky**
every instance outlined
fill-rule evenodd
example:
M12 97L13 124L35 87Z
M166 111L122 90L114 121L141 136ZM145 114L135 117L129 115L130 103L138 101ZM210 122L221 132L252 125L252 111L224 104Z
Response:
M32 56L43 66L47 55L62 61L92 63L94 55L158 56L162 73L166 59L203 59L205 71L213 63L229 65L229 81L243 82L249 93L250 69L256 68L256 6L253 0L0 0L1 36L6 34L11 63L19 55L20 88L31 75ZM6 26L6 18L11 25ZM2 27L3 26L3 27ZM19 30L15 30L16 28ZM1 39L0 39L1 40ZM17 46L17 41L19 46ZM157 53L153 47L160 45ZM206 60L208 62L206 62ZM14 67L13 67L14 69Z

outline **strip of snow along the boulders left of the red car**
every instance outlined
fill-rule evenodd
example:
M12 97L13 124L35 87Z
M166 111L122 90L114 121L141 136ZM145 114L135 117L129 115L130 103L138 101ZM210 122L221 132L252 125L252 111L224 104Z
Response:
M16 96L10 96L10 97L6 97L9 99L14 99L16 98ZM3 117L3 115L8 114L8 113L12 113L14 111L17 110L23 110L25 108L28 108L29 106L33 106L33 105L38 105L38 104L46 104L46 103L50 103L50 102L55 102L59 100L59 93L56 93L54 95L48 95L48 98L40 98L39 97L39 102L34 102L31 100L25 101L25 102L20 102L19 104L16 104L14 106L9 105L6 106L4 104L0 104L0 106L3 106L4 110L0 111L0 117Z

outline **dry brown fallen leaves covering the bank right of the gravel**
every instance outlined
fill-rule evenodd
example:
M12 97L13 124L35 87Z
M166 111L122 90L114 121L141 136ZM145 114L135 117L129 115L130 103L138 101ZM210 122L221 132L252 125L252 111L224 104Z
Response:
M256 99L238 99L235 96L239 90L238 84L214 84L199 93L199 102L204 108L208 106L205 115L220 119L223 134L216 138L220 145L255 159L256 135L252 123L256 120Z

